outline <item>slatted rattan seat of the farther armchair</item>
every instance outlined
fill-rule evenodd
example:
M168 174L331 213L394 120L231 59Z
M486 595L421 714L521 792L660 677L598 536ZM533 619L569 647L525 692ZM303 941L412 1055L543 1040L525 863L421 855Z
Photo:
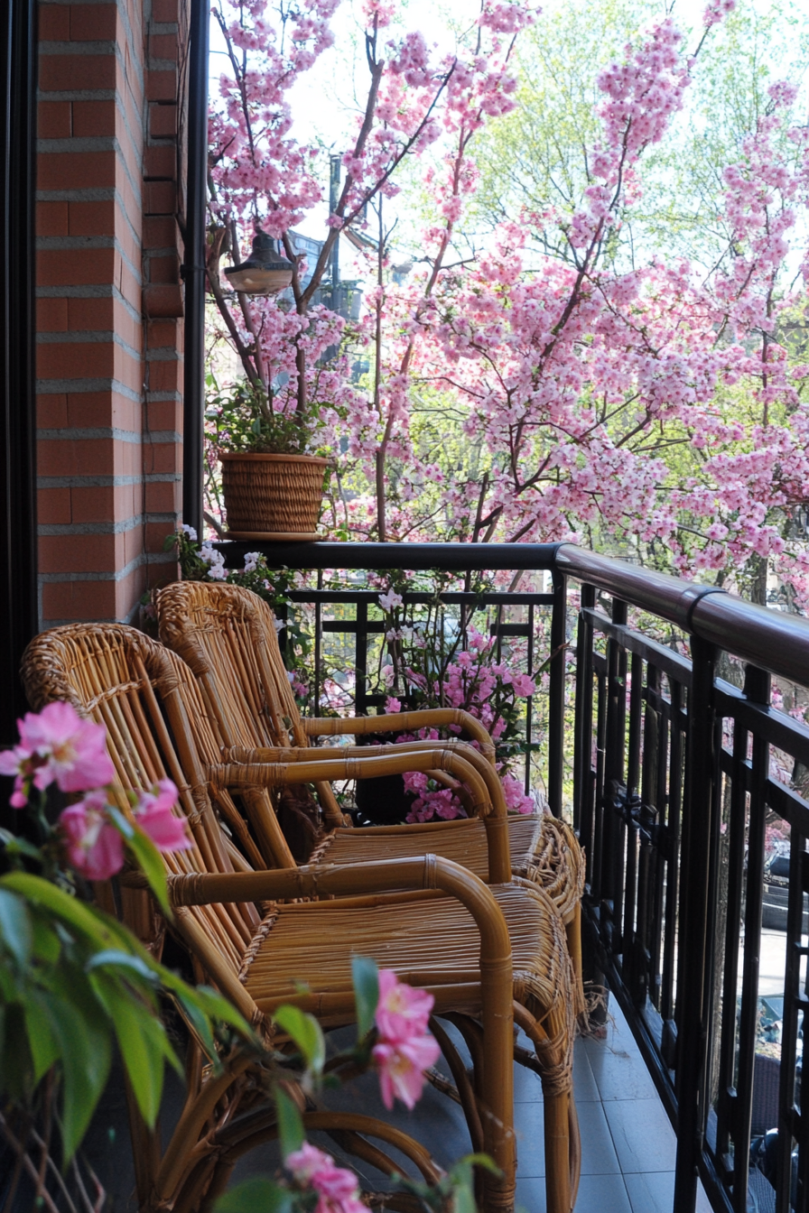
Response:
M564 922L581 899L583 865L581 850L568 835L570 827L549 814L509 816L508 845L515 876L539 884L551 898ZM483 881L489 877L486 830L479 818L410 826L369 826L332 830L309 862L361 864L409 855L440 855L469 869Z

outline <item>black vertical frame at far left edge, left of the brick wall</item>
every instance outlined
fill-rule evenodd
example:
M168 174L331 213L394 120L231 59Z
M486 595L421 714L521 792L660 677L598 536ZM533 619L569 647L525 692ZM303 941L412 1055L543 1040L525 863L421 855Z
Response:
M34 400L33 0L0 6L0 746L16 739L25 710L22 651L38 630L36 410Z

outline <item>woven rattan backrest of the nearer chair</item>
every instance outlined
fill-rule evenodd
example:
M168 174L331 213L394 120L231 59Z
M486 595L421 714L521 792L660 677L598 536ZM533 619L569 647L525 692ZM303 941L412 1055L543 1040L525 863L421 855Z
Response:
M205 721L207 713L188 670L172 653L131 627L67 625L32 640L22 673L33 707L63 700L107 727L116 773L113 795L124 813L130 813L129 792L148 790L160 779L177 785L180 810L189 822L194 845L164 855L169 875L249 869L222 833L194 746L188 745L192 727L186 704L198 721ZM130 896L130 906L136 896ZM142 934L142 922L129 916L127 921ZM183 909L180 923L195 947L203 943L207 967L249 1018L253 1018L255 1006L238 976L260 922L252 904L222 904Z

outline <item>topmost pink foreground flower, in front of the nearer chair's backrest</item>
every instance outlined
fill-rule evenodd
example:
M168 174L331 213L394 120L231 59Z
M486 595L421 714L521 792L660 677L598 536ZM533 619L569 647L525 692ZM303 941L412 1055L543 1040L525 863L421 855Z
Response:
M70 704L47 704L39 713L28 712L18 728L15 808L25 803L32 781L40 790L56 781L63 792L86 792L115 778L107 729L82 721ZM1 768L4 774L15 773L8 767Z

